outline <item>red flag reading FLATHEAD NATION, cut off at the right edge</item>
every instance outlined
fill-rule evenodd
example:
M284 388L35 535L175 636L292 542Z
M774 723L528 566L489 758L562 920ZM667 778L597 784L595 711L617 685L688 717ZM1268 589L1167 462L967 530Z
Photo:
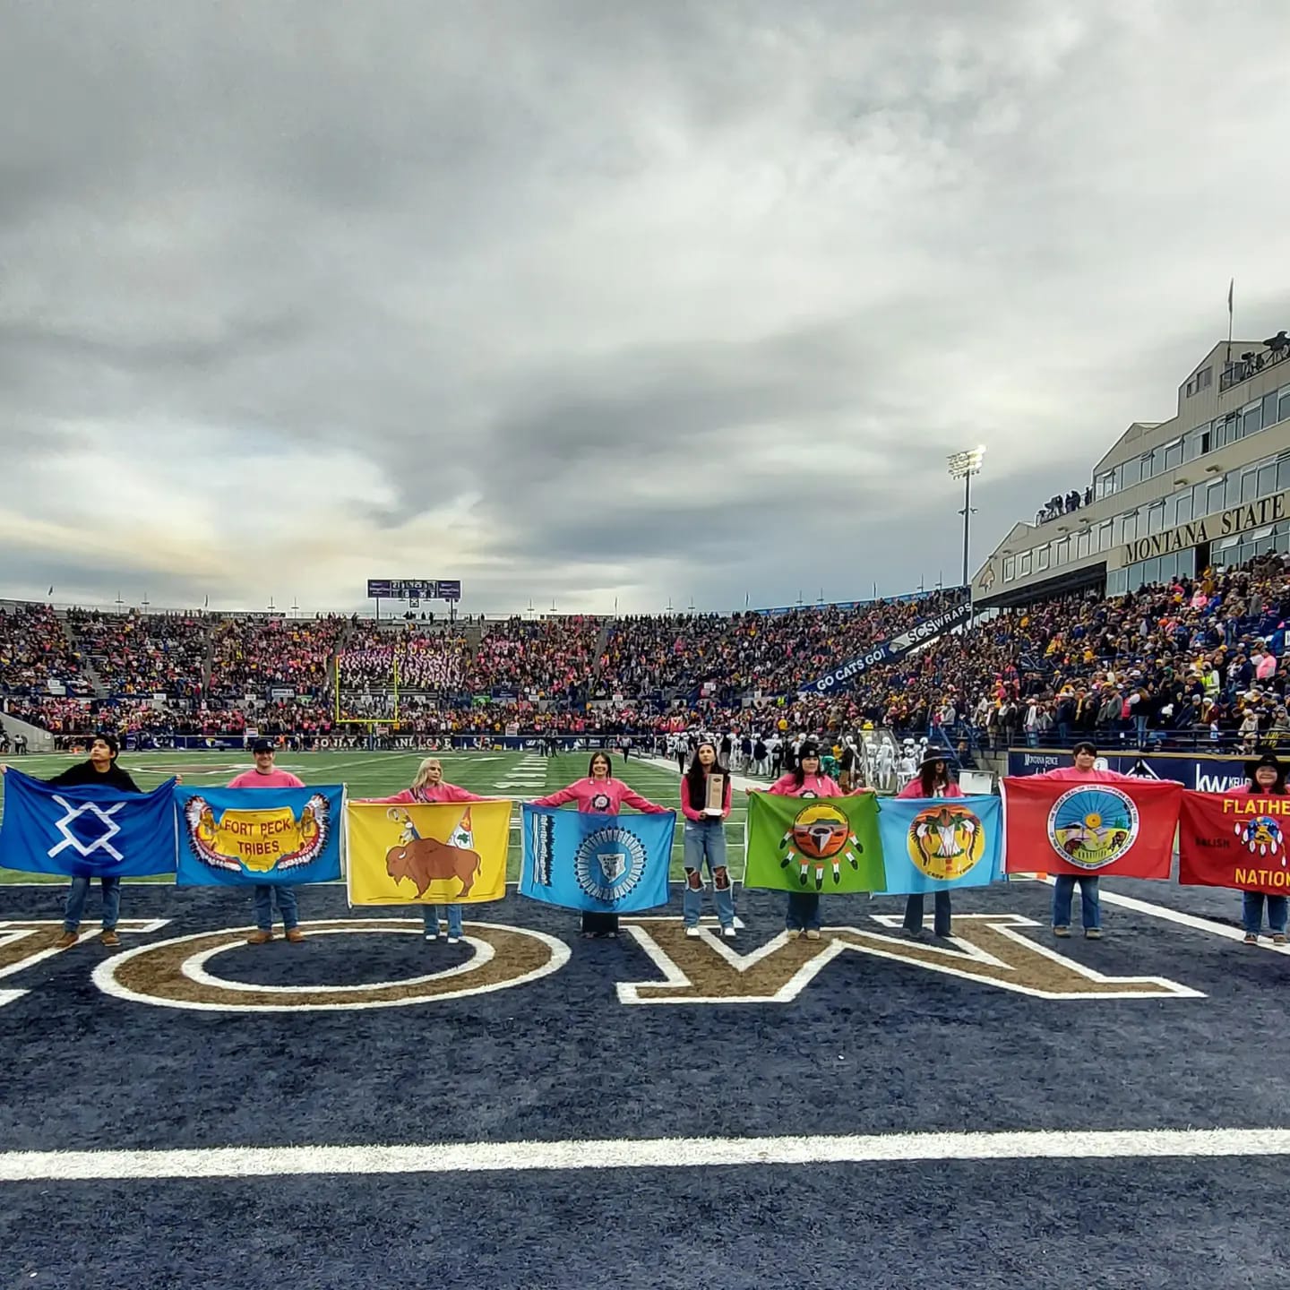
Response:
M1178 881L1290 894L1290 797L1183 793Z

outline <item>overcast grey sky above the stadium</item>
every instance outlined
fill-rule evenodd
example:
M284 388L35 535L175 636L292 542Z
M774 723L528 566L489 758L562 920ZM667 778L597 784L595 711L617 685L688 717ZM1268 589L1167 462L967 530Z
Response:
M0 596L957 579L1290 325L1290 5L0 0Z

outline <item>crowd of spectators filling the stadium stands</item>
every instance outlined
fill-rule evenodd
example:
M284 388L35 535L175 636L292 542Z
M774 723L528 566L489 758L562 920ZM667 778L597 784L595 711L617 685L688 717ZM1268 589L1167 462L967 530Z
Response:
M849 686L799 693L951 604L952 593L935 593L774 615L510 619L486 626L473 654L459 624L232 619L208 624L208 636L200 620L74 614L67 627L104 660L99 675L114 691L97 699L46 691L50 677L75 681L80 660L52 610L25 606L0 615L0 682L10 713L59 737L107 726L350 738L333 722L339 657L344 715L370 721L393 716L386 682L397 659L400 728L426 740L873 726L996 748L1069 746L1081 734L1130 747L1290 744L1281 662L1290 570L1280 556L1117 599L1090 593L986 615ZM204 693L194 660L206 640ZM172 670L182 681L154 700Z

